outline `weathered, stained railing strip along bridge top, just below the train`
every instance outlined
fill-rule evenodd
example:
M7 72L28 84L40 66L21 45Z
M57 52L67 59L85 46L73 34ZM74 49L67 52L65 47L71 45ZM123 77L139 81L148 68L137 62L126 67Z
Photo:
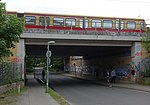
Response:
M109 36L148 36L143 32L112 32L109 30L59 30L59 29L37 29L25 28L24 33L39 34L77 34L77 35L109 35Z

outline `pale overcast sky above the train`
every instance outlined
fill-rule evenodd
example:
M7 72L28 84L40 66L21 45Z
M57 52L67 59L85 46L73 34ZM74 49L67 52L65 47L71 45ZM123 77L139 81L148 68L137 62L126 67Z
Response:
M150 23L150 0L1 0L7 11L142 18Z

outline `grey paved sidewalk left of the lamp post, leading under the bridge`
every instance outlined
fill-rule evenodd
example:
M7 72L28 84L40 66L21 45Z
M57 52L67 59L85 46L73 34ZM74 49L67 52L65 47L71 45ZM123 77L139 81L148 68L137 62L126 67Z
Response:
M33 75L28 75L28 90L17 100L17 105L59 105L48 93L45 87L40 85Z

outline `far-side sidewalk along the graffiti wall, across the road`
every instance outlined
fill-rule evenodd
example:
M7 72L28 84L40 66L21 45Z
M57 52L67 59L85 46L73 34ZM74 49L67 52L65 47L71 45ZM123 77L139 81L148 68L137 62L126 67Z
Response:
M88 78L84 78L84 77L81 77L81 76L75 77L74 75L71 75L71 74L64 74L64 75L74 77L74 78L90 80ZM93 80L93 79L91 81L93 81L97 84L100 84L100 85L108 86L108 84L104 83L104 82L99 82L99 81L96 81L96 80ZM150 92L150 86L134 84L134 83L115 83L115 84L113 83L112 86L113 87L118 87L118 88L126 88L126 89L133 89L133 90Z

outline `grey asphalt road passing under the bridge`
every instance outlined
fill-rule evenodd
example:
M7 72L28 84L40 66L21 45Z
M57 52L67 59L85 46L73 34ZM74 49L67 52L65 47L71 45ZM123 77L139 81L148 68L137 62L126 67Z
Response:
M90 81L50 75L51 86L73 105L150 105L150 93L109 88Z

